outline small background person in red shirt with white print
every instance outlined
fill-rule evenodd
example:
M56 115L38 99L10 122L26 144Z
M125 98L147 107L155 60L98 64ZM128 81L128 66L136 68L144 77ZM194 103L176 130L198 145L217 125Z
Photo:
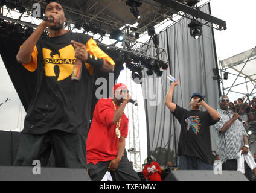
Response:
M144 166L143 175L149 181L162 181L161 167L158 163L153 162L151 157L147 158L147 164Z

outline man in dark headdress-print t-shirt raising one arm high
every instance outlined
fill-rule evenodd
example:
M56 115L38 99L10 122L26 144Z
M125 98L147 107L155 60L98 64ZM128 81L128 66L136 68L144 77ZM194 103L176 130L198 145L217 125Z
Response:
M203 98L200 93L194 93L191 96L189 111L173 103L173 90L178 83L179 81L171 83L165 100L165 104L181 124L178 169L213 169L209 126L216 124L220 115L204 100L199 102ZM202 106L207 111L200 111Z

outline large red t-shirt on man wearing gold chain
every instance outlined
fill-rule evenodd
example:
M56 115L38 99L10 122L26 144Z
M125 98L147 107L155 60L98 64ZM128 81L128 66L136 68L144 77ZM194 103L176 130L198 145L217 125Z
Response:
M118 106L116 109L118 109ZM94 165L100 161L110 161L117 156L119 138L115 133L116 124L113 124L114 104L111 98L102 98L94 110L91 128L86 142L87 163ZM123 113L120 125L121 136L128 134L128 118Z

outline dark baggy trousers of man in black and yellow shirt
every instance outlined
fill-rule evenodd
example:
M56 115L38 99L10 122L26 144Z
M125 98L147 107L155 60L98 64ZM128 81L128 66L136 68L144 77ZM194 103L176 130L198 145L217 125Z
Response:
M41 166L48 163L51 150L56 167L87 168L86 136L51 130L45 134L22 133L14 166L33 166L40 160Z

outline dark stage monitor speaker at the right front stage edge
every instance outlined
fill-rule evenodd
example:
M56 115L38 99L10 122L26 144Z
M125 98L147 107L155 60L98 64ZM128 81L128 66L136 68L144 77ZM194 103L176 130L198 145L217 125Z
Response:
M171 171L164 181L248 181L239 171L222 171L214 174L211 170Z

